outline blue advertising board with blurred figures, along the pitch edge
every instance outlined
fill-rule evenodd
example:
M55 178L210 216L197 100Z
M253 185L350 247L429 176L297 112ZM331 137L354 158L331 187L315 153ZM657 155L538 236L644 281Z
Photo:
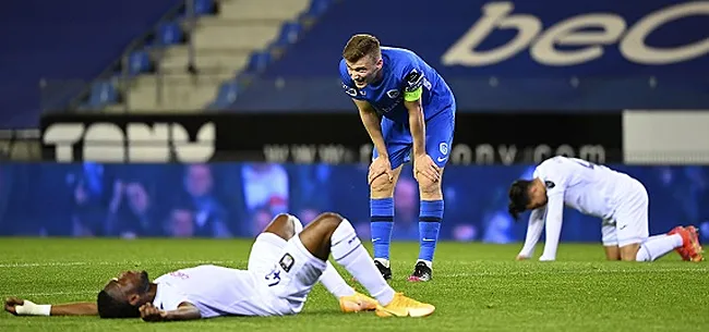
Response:
M709 167L617 167L650 195L650 233L695 224L709 238ZM347 217L369 238L366 165L0 165L0 235L254 237L279 212ZM507 214L507 187L531 165L446 168L446 241L524 239L527 216ZM418 241L418 186L407 165L395 192L396 241ZM600 242L600 220L564 214L562 241Z

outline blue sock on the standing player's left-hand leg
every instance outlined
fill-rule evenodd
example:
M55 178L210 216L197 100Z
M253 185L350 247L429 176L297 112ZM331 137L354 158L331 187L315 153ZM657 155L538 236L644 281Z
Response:
M370 217L374 258L388 260L392 229L394 228L394 198L371 198Z

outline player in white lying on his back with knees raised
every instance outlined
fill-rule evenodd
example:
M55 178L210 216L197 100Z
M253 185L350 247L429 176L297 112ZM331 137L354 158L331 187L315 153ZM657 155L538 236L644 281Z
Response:
M300 232L302 230L302 232ZM376 298L354 292L327 261L331 253ZM248 270L199 266L151 282L147 272L123 272L98 293L96 303L35 305L9 298L5 310L21 316L95 316L145 321L218 316L299 313L317 282L339 298L345 312L375 310L380 317L423 317L435 307L395 293L374 266L347 219L323 213L305 229L288 214L276 217L256 237Z

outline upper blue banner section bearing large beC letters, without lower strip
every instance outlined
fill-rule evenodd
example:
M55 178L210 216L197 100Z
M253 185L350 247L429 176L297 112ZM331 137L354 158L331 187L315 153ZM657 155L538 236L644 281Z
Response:
M363 8L373 10L354 14ZM444 77L701 78L707 27L707 1L343 1L272 73L332 75L348 38L369 33L416 51Z

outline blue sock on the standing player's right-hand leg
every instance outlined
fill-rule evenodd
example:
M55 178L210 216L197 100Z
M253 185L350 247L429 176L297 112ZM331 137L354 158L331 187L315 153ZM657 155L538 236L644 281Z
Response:
M419 260L433 261L443 220L443 200L421 200L419 212Z

